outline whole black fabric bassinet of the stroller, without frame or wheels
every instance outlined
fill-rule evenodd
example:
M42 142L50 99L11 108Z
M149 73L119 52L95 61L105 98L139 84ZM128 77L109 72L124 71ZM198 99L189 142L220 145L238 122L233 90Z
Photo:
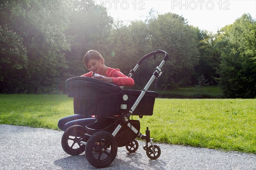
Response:
M122 90L117 85L90 77L67 79L68 96L74 98L74 113L111 116L128 112L142 91ZM155 91L146 91L133 115L153 114Z

